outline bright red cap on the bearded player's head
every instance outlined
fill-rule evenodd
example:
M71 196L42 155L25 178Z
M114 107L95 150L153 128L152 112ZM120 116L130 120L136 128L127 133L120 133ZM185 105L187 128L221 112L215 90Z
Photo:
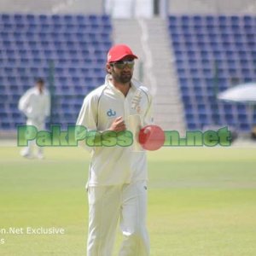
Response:
M113 45L108 50L108 63L113 61L120 61L126 56L131 56L133 59L137 59L137 55L134 55L131 48L125 44Z

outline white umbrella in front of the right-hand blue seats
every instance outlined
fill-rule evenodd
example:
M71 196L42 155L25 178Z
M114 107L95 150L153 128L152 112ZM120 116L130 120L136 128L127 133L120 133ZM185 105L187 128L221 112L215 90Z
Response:
M239 84L224 90L218 94L218 100L256 104L256 83Z

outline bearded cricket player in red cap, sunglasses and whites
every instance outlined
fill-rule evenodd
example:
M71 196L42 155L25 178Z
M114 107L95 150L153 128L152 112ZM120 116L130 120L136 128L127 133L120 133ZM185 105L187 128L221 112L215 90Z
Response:
M77 125L87 131L137 131L152 123L152 97L132 79L134 55L125 44L108 51L105 83L84 98ZM135 137L136 142L137 138ZM88 147L89 230L87 256L111 256L117 225L119 256L148 256L146 152L131 147Z

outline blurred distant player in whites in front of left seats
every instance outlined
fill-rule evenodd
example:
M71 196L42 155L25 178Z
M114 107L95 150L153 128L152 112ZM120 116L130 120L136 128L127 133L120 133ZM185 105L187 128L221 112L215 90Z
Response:
M50 97L49 91L44 87L44 79L37 79L35 86L21 96L19 109L26 115L26 125L34 125L38 131L44 130L45 119L49 116ZM32 158L35 141L29 141L28 146L21 150L20 154L26 158ZM37 147L36 156L44 159L43 148Z

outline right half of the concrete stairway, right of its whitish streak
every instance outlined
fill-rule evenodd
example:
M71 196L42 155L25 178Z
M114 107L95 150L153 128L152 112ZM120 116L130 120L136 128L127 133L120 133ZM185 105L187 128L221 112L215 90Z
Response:
M183 132L185 130L183 103L177 84L175 59L170 47L166 20L154 18L145 20L145 23L156 83L154 84L155 123L161 124L164 129Z

